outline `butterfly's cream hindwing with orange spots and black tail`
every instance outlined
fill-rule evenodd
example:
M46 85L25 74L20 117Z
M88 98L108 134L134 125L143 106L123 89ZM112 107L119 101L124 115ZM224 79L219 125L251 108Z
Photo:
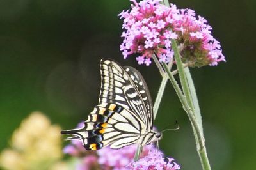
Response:
M98 150L110 144L111 148L122 148L138 141L141 127L145 127L138 119L120 105L100 104L88 115L83 128L62 131L62 134L76 135L86 150ZM126 140L125 144L116 143L120 140Z

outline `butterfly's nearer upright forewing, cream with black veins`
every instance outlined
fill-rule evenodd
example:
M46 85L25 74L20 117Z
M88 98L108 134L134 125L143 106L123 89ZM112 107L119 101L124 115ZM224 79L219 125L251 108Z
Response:
M136 82L132 80L134 75L131 74L132 77L130 77L122 66L110 59L100 61L100 72L102 84L99 103L107 102L122 105L125 109L130 109L138 114L141 120L148 125L148 116L145 114L148 112L147 107L143 102L143 97L141 97L141 90L138 89L140 85L136 85ZM130 73L133 73L132 70Z

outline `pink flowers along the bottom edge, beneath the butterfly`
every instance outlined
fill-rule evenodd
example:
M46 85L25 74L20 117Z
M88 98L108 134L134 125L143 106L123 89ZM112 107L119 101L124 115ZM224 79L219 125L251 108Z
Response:
M180 169L173 158L164 158L163 153L152 145L143 147L140 160L137 162L133 162L136 145L119 150L106 147L97 151L87 151L80 141L72 141L63 149L63 152L80 160L76 164L77 170Z

